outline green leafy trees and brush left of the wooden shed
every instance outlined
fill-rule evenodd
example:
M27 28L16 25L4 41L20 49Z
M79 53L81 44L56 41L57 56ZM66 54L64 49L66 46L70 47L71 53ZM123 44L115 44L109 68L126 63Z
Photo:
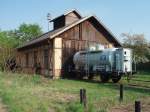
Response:
M25 23L15 30L0 31L0 69L6 70L8 63L14 62L16 47L41 34L42 30L39 25Z

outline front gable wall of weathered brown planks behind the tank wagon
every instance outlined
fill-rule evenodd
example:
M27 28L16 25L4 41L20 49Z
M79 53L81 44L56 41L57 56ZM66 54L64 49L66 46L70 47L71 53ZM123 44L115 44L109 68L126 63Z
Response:
M85 21L62 33L62 71L65 74L73 69L73 55L80 50L87 50L89 45L101 44L105 48L113 45L89 22Z

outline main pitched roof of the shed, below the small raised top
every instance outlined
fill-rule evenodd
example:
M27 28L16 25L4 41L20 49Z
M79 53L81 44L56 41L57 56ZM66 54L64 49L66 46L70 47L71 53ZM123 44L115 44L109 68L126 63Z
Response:
M59 28L59 29L56 29L56 30L52 30L52 31L49 31L47 33L44 33L40 36L38 36L37 38L29 41L29 42L26 42L24 45L18 47L17 49L21 49L21 48L24 48L24 47L27 47L27 46L30 46L30 45L33 45L33 44L36 44L38 42L41 42L41 41L44 41L46 39L52 39L52 38L55 38L56 36L62 34L63 32L69 30L70 28L84 22L85 20L89 20L90 22L93 23L93 25L99 29L99 31L101 32L104 32L106 35L106 38L108 40L111 40L115 43L117 43L118 46L122 46L121 43L117 40L117 38L110 32L110 30L108 30L108 28L106 28L98 19L96 16L87 16L87 17L83 17L82 19L80 20L77 20L69 25L66 25L62 28Z

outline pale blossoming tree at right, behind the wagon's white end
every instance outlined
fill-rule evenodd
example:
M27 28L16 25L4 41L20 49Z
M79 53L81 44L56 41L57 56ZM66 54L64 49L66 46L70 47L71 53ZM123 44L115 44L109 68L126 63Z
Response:
M123 33L123 45L133 49L133 57L136 63L145 63L150 60L150 48L144 34Z

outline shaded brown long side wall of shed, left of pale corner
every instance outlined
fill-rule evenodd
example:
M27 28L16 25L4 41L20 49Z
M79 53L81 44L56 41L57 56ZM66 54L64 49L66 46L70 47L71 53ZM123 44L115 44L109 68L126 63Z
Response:
M49 58L48 58L48 69L45 68L45 64L44 64L44 50L48 50L49 52ZM36 53L36 57L37 57L37 64L40 64L41 68L40 68L40 74L44 74L44 75L48 75L48 74L52 74L53 71L53 43L50 42L47 45L42 45L39 47L35 47L35 48L28 48L26 50L23 51L19 51L17 53L17 64L21 66L22 71L25 73L29 73L29 74L33 74L35 73L35 63L34 63L34 57ZM27 63L27 59L26 59L26 55L28 54L28 65L26 65Z

